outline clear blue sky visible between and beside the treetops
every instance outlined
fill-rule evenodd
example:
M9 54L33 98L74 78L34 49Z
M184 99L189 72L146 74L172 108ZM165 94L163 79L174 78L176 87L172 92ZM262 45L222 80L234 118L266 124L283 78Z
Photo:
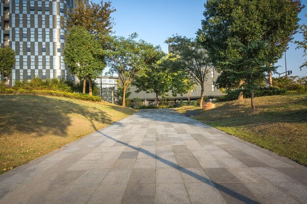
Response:
M100 0L92 0L100 2ZM205 0L112 0L116 11L113 31L117 36L128 37L136 32L140 39L153 45L160 45L162 50L168 52L165 40L174 34L186 37L195 37L196 31L201 28L204 19L203 12ZM307 0L302 0L307 5ZM307 8L299 14L300 24L307 24ZM294 40L302 40L302 34L294 35ZM289 44L286 51L287 70L292 70L292 76L307 76L307 68L300 66L307 56L303 57L303 49L295 49L296 45ZM285 71L284 56L275 66L280 66L277 71ZM273 76L278 76L274 74Z

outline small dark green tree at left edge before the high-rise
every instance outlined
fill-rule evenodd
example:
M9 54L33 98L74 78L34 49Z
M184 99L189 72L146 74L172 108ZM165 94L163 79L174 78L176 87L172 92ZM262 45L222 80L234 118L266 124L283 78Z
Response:
M0 74L3 74L3 78L11 74L15 62L15 51L12 48L0 48Z

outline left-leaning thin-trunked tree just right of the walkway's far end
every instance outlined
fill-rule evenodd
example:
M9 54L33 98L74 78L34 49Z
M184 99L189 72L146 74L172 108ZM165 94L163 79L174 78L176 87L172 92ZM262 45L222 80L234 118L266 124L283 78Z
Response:
M210 71L211 64L207 51L196 39L174 36L165 41L171 46L171 53L178 55L177 67L186 71L201 86L200 108L203 108L204 83Z

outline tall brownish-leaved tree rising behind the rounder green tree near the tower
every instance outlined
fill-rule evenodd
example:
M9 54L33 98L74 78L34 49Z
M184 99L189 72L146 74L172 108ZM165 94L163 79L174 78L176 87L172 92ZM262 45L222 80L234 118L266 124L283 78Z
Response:
M112 33L114 25L111 14L116 9L112 7L110 1L103 2L101 0L100 3L86 4L84 0L76 0L75 3L76 6L68 12L69 18L66 21L68 30L75 26L81 26L96 39L99 39L102 47L107 49L110 41L109 35ZM105 61L106 56L101 57ZM91 79L88 82L92 84ZM83 84L85 83L86 80L83 79Z

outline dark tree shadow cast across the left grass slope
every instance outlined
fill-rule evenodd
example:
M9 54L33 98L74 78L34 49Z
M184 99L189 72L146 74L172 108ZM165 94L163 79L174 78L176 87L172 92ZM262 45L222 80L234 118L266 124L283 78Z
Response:
M113 106L110 109L120 111ZM0 95L0 136L16 133L67 136L67 127L72 125L71 114L82 115L95 130L98 129L95 121L113 122L103 110L69 100L38 95Z

